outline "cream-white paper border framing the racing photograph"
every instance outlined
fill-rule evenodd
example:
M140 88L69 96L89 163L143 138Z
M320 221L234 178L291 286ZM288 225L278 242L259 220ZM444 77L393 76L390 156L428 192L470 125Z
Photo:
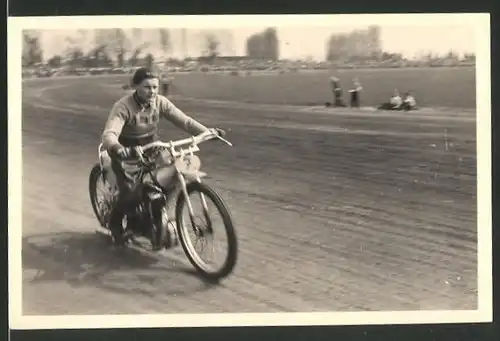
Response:
M235 26L446 25L476 28L478 309L471 311L327 312L168 315L22 315L22 31L26 29L117 28L162 26L233 28ZM492 321L492 182L490 15L349 14L220 16L53 16L8 18L8 199L9 325L11 329L145 328L214 326L300 326L477 323Z

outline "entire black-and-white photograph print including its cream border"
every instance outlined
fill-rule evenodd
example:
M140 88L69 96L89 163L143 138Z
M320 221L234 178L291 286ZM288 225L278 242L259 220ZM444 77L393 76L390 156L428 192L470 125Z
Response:
M9 18L11 327L491 320L489 44L486 14Z

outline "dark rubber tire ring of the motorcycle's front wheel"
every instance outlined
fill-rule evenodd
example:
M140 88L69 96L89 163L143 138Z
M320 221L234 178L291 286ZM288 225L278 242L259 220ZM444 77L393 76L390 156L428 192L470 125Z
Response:
M179 242L182 245L186 257L189 259L189 262L196 268L196 270L205 279L218 282L219 280L231 274L234 267L236 266L238 255L238 240L233 225L233 219L221 196L208 185L199 182L191 182L187 185L187 192L188 194L191 194L193 192L200 192L204 194L206 199L210 199L215 204L217 210L219 211L219 214L222 216L225 232L228 237L228 254L224 261L224 264L222 265L222 267L220 267L220 269L216 271L208 271L203 263L198 262L197 258L199 258L199 256L196 250L191 247L191 243L188 243L187 239L189 238L189 236L186 234L186 229L188 227L184 226L184 222L182 219L182 212L184 207L187 209L186 198L183 192L180 193L175 210ZM189 226L191 226L190 222Z

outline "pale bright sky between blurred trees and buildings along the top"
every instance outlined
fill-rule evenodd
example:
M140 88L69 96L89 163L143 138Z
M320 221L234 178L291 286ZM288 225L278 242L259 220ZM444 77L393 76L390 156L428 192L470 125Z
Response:
M474 26L465 24L446 25L405 25L384 26L381 28L382 48L386 52L402 53L407 58L412 58L419 53L434 52L444 54L450 49L463 54L475 52ZM350 32L355 29L365 29L364 26L285 26L277 27L280 38L280 58L307 58L324 60L326 41L331 34ZM210 29L221 42L221 55L244 55L245 41L254 34L261 32L264 27L237 27L232 29ZM125 30L132 36L132 30ZM45 51L45 58L50 58L61 53L67 46L66 36L78 36L76 30L42 30L40 31L41 42ZM172 51L169 56L184 57L186 54L198 56L204 49L204 32L200 29L186 29L185 43L182 43L182 30L171 29ZM157 44L159 41L158 30L148 29L142 37L135 41L151 41L156 45L147 49L153 54L161 53ZM93 45L93 35L79 39L84 50Z

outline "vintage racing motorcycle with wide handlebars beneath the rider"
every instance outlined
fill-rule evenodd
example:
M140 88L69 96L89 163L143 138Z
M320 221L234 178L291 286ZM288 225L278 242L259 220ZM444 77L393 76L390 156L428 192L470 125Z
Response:
M207 280L218 281L233 271L237 261L238 242L229 209L221 195L202 182L201 179L207 174L200 170L201 161L195 154L200 151L200 143L215 139L232 146L229 141L220 137L215 129L210 129L182 140L155 141L133 149L139 165L136 192L138 200L135 209L126 213L124 236L127 243L131 241L135 246L142 245L137 242L139 239L146 239L146 245L149 244L149 247L144 246L142 249L158 252L171 246L171 232L176 232L178 241L194 268ZM98 158L99 162L93 166L89 176L90 201L100 229L110 236L108 223L111 209L117 199L118 187L111 168L110 156L107 151L103 150L102 144L98 147ZM102 204L99 204L97 200L99 180L105 184L108 194ZM166 216L168 195L175 188L180 188L180 191L175 200L176 226L173 227L165 221L169 221L169 217ZM195 214L189 198L189 195L193 193L198 193L200 196L203 207L202 219ZM214 226L209 216L207 199L212 201L222 216L228 240L228 252L224 262L215 269L201 259L189 237L190 230L199 238L213 236ZM189 212L187 222L182 214L186 207ZM130 221L134 223L129 224Z

